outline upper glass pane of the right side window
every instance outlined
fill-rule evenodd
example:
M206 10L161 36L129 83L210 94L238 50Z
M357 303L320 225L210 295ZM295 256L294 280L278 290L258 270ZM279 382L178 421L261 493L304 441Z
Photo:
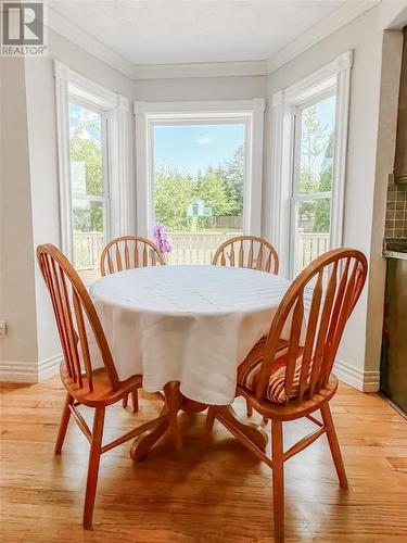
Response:
M334 96L301 111L300 192L331 190L334 125Z

